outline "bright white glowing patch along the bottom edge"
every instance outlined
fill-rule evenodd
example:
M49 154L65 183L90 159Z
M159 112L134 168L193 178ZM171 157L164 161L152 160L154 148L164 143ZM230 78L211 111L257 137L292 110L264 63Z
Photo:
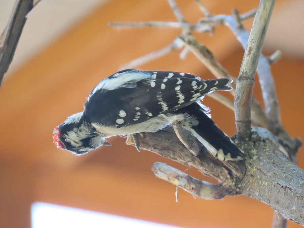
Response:
M100 227L133 227L133 228L174 228L159 223L130 219L71 207L36 202L32 205L32 228L100 228Z

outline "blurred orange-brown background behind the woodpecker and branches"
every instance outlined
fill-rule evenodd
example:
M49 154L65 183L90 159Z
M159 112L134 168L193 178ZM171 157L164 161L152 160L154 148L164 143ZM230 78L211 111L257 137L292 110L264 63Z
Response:
M202 2L212 15L231 14L232 8L244 13L258 5L258 1ZM277 2L274 17L280 16L286 2ZM189 22L203 17L194 0L177 3ZM36 201L181 227L271 226L271 208L246 196L204 200L181 190L179 202L175 202L175 186L156 178L151 167L156 161L182 171L187 167L149 151L137 152L119 136L109 139L113 146L82 156L54 146L54 127L83 110L96 84L130 60L168 45L181 33L178 29L116 29L107 23L152 20L176 21L167 1L107 1L4 80L0 89L0 227L30 227L30 206ZM245 22L249 31L252 21ZM269 29L275 28L275 24L271 26ZM209 47L231 75L238 75L244 51L227 27L217 27L213 36L194 36ZM275 51L272 38L278 37L267 38L265 55ZM283 48L288 50L287 43L294 42L286 40ZM181 60L179 53L174 51L140 68L214 78L191 53L186 60ZM301 138L303 56L285 55L283 51L283 57L271 66L282 123L292 137ZM254 94L263 103L256 81ZM223 131L230 136L236 133L232 111L209 97L204 104L211 108L212 119ZM304 168L302 149L298 165ZM193 168L187 173L209 180ZM289 222L289 227L300 226Z

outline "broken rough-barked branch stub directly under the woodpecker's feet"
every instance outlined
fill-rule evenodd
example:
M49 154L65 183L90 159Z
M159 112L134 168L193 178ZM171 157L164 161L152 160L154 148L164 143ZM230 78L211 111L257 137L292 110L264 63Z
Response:
M145 133L143 136L138 136L138 140L141 149L150 150L173 161L194 167L202 174L217 179L224 187L231 187L236 192L232 183L245 173L244 163L242 161L219 161L188 130L184 129L184 134L199 146L200 154L198 156L193 155L178 139L172 126L157 133ZM126 143L134 145L132 137L129 137Z

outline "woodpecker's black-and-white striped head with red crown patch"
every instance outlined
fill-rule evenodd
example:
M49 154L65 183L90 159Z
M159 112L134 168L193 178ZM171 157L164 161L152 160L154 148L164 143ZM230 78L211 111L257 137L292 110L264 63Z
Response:
M81 155L102 145L111 145L96 129L83 119L83 112L69 116L54 129L53 140L57 148Z

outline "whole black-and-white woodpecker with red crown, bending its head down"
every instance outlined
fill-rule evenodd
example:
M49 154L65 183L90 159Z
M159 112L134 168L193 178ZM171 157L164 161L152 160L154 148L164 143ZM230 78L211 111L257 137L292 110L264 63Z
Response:
M202 80L193 74L127 69L105 78L85 103L85 110L69 116L54 130L57 147L85 154L105 138L156 132L174 120L219 160L240 160L243 152L206 113L199 99L215 90L230 90L232 80Z

